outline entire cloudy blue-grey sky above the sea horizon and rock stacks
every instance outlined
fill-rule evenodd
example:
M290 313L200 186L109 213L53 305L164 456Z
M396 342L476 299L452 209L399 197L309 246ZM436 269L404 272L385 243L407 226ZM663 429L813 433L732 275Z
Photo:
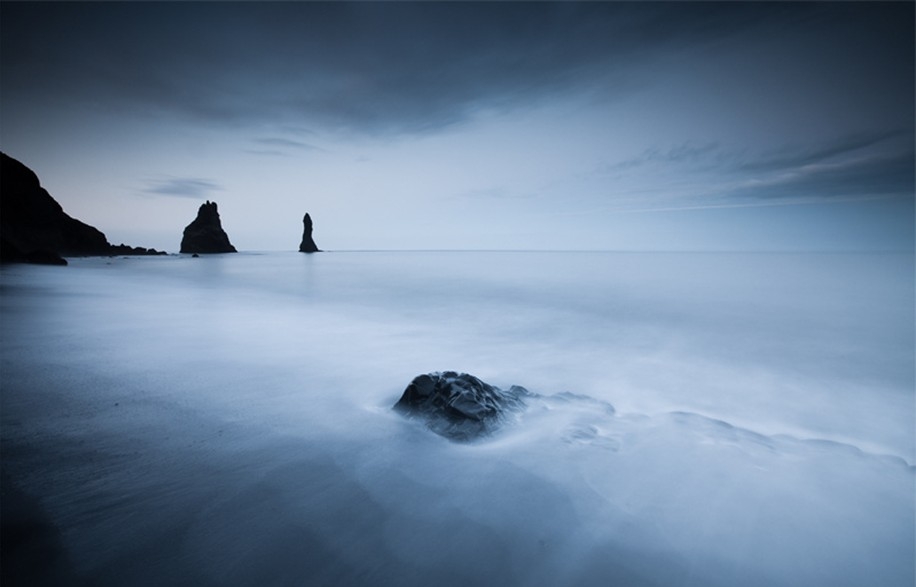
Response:
M0 150L175 252L914 248L914 5L0 3Z

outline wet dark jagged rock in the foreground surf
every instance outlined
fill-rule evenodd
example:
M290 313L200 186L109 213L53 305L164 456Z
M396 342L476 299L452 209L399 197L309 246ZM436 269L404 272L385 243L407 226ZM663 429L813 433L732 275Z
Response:
M410 382L394 409L420 417L450 440L468 441L496 431L514 412L525 409L527 389L500 389L467 373L430 373Z

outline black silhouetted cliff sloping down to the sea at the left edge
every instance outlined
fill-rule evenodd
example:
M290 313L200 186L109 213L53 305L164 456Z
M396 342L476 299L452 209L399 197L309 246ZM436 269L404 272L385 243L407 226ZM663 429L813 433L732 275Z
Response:
M113 247L98 229L71 218L41 187L34 171L0 153L0 260L66 265L64 256L164 255Z

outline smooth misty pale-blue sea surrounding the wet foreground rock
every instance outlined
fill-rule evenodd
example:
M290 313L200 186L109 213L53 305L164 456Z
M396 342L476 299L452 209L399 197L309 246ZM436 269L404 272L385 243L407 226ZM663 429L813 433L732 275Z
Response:
M913 583L912 255L72 259L0 287L4 474L76 584ZM390 410L441 370L542 397L451 443Z

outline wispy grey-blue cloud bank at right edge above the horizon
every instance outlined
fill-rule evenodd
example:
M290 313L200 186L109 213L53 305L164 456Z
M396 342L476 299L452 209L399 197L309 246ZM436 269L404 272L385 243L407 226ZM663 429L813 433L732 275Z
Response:
M653 147L607 165L598 173L643 186L658 185L659 178L674 178L673 189L681 195L661 198L659 207L652 209L682 210L753 207L783 200L813 203L912 198L914 160L913 133L892 131L843 135L758 154L715 143ZM683 199L691 203L671 205ZM633 209L649 208L634 203Z

